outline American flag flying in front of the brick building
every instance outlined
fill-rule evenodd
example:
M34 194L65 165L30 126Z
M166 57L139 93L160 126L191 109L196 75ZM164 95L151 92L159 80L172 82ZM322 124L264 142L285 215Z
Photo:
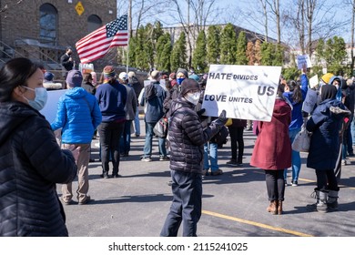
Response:
M111 47L127 44L127 15L122 15L77 41L76 51L81 63L85 64L105 56Z

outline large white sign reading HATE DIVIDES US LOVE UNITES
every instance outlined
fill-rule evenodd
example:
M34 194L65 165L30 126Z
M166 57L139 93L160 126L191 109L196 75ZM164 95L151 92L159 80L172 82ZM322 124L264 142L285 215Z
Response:
M211 65L202 108L204 115L270 121L281 66Z

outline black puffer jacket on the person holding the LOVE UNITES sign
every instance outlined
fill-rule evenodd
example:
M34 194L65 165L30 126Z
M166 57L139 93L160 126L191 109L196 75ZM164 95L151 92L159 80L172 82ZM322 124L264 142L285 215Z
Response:
M203 129L195 106L184 97L172 101L169 119L170 168L202 173L203 145L218 133L218 126L212 122Z

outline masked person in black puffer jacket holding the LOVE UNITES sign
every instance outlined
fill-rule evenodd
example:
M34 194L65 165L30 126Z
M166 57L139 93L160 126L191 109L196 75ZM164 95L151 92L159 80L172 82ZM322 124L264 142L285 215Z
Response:
M203 145L226 123L226 111L208 128L202 128L195 110L201 88L193 79L185 79L181 93L170 109L168 138L173 201L160 236L176 237L183 223L183 236L197 236L201 217Z

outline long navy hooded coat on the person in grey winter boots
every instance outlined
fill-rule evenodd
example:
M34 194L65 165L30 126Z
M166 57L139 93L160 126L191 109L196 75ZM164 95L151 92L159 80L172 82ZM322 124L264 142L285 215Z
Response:
M330 111L330 107L345 109L337 99L326 99L316 107L307 121L312 132L307 167L329 170L335 168L339 154L339 132L344 113Z

